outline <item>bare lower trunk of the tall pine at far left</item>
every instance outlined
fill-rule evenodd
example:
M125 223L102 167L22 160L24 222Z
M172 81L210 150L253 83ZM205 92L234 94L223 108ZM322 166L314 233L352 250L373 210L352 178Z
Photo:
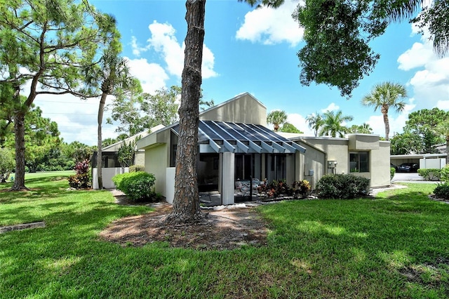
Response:
M15 177L12 191L29 190L25 187L25 112L14 116L15 132Z

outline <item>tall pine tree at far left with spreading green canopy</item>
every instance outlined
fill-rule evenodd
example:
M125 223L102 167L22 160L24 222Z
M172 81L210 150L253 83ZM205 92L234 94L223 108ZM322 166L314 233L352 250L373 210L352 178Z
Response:
M15 181L25 187L25 115L40 94L78 94L81 67L91 63L115 24L88 1L0 1L0 84L10 84L15 103ZM20 91L27 81L25 102Z

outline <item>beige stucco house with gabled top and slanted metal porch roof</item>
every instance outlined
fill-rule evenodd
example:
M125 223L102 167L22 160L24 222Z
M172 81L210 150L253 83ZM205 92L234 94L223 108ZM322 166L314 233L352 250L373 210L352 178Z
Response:
M267 108L249 93L199 114L199 192L220 192L222 204L234 203L239 180L316 182L326 173L354 173L370 178L371 187L389 185L389 142L377 135L348 138L288 138L267 126ZM179 124L141 138L145 171L156 176L156 192L169 203L175 192ZM290 136L291 137L291 136Z

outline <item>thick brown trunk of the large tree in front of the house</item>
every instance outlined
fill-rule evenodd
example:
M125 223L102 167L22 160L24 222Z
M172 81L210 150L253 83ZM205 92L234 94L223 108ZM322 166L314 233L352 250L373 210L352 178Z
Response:
M175 198L169 224L199 222L205 217L199 206L196 159L198 156L199 99L203 60L206 0L187 0L187 36L182 71L180 131L177 142Z

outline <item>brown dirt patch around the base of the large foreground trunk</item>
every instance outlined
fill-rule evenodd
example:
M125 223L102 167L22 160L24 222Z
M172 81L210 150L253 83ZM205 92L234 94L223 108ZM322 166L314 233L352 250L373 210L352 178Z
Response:
M126 204L126 197L119 201ZM121 218L112 222L100 237L122 245L144 246L165 241L172 247L199 250L226 250L243 245L263 246L267 242L267 223L255 208L224 208L207 210L203 222L195 225L167 226L163 219L172 209L158 203L155 211L145 215Z

